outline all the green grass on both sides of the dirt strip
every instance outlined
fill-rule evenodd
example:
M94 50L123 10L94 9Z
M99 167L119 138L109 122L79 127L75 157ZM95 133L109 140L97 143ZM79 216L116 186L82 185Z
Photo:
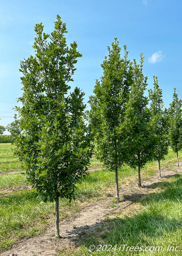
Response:
M179 152L179 159L182 152ZM100 163L91 159L91 166ZM161 163L174 169L176 155L169 151L166 161ZM44 203L39 194L33 189L18 189L11 191L11 187L27 184L24 174L6 173L22 170L21 163L13 157L11 144L0 144L0 251L11 247L21 238L36 236L45 230L45 227L55 221L54 203ZM147 163L142 170L142 180L150 178L157 170L157 162ZM119 184L126 179L137 180L137 171L127 165L118 173ZM142 212L135 212L132 217L106 219L104 230L94 236L80 241L78 248L60 255L151 255L151 252L131 251L98 251L90 253L88 246L94 244L128 246L163 246L164 252L154 251L152 255L181 255L180 252L170 254L166 246L181 246L182 250L182 178L179 175L169 179L167 185L159 193L155 193L147 200L141 200ZM5 188L9 188L6 192ZM115 189L115 173L106 169L91 172L82 184L77 184L76 200L71 203L67 199L60 199L60 220L74 216L87 202L104 199L106 191ZM84 207L86 204L84 204ZM98 242L97 242L98 241Z

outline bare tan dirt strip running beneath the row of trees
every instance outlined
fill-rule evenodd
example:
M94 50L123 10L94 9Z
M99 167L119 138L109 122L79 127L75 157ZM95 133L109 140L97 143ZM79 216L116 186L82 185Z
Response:
M182 165L182 161L180 162L180 165ZM155 174L150 180L142 182L143 188L138 188L137 182L131 181L128 178L128 182L120 189L120 198L122 198L122 201L119 204L116 204L116 207L111 207L114 195L114 191L111 191L105 200L84 208L74 219L60 222L61 239L55 240L55 227L49 226L44 234L38 237L23 239L13 245L10 250L5 251L0 255L52 256L58 255L58 248L60 251L74 248L76 238L98 229L106 216L115 216L117 211L119 211L121 215L127 215L127 212L130 211L130 209L132 211L135 209L135 204L132 204L133 202L143 196L153 193L155 189L157 189L157 182L166 181L170 176L181 172L182 167L177 167L174 171L163 169L161 171L162 178L158 177L158 173Z

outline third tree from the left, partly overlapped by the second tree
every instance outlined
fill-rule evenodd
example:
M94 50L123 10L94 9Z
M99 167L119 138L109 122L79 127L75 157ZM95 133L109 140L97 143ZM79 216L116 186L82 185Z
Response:
M133 63L133 83L130 99L127 103L126 113L130 123L130 136L132 137L131 158L128 165L138 167L138 186L141 184L141 168L153 158L153 137L149 126L150 113L147 108L149 99L144 96L147 77L143 75L144 57L141 53L140 64Z

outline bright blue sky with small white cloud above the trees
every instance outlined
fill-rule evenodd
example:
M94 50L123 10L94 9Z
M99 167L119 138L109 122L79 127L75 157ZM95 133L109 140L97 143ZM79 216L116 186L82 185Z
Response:
M181 13L181 0L0 0L0 125L13 121L12 108L22 94L20 61L34 54L34 25L42 22L51 33L57 14L66 22L67 44L77 41L83 54L71 85L83 89L85 102L102 75L107 46L117 37L122 54L127 45L129 59L139 61L144 53L148 89L158 76L168 108L174 87L182 98Z

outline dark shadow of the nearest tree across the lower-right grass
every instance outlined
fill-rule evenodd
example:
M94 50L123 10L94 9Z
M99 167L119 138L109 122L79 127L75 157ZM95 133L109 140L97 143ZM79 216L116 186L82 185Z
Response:
M165 235L181 230L181 220L164 217L157 212L144 212L133 217L114 218L90 226L81 226L67 232L68 238L77 246L89 248L90 245L161 246L158 240L165 240ZM156 244L155 244L156 240ZM103 254L102 254L103 253ZM113 253L113 254L112 254ZM135 252L100 252L91 255L135 255ZM88 255L90 253L88 252ZM138 252L136 252L138 255ZM159 254L160 255L160 254ZM161 254L162 255L162 254ZM177 255L177 254L176 254Z

